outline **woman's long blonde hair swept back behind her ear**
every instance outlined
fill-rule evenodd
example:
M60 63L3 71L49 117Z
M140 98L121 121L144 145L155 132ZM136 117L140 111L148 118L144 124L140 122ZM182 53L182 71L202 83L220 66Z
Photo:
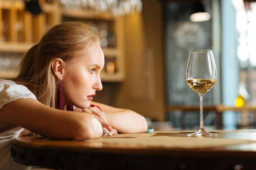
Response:
M55 25L31 47L18 65L18 76L12 80L28 87L37 100L55 107L58 79L55 78L51 62L55 58L69 61L92 42L100 44L100 37L90 26L78 22Z

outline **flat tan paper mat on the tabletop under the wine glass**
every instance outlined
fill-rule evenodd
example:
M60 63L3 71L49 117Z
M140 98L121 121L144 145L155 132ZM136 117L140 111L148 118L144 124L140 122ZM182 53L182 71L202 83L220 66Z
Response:
M152 134L150 134L152 135ZM114 135L115 136L115 135ZM130 138L128 137L130 136ZM99 138L86 140L86 142L102 142L115 145L140 145L145 147L164 147L164 148L211 148L223 145L237 145L243 143L253 143L252 140L233 140L224 138L186 138L171 136L131 136L116 138Z

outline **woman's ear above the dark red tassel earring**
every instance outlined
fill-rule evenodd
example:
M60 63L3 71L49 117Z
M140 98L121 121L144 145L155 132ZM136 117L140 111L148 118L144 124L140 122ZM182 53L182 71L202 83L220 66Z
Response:
M60 58L55 58L52 62L51 62L51 68L54 71L54 75L59 79L62 80L63 76L64 76L64 61L61 60Z

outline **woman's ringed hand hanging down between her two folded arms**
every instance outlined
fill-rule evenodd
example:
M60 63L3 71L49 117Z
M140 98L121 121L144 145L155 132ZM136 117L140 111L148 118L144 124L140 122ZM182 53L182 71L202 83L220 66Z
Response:
M110 133L112 134L117 134L117 131L114 130L109 122L107 121L106 117L103 115L101 110L98 107L89 107L89 108L84 108L82 112L87 112L93 115L94 117L97 118L97 120L100 121L101 125L103 128L106 128ZM116 133L115 133L116 131Z

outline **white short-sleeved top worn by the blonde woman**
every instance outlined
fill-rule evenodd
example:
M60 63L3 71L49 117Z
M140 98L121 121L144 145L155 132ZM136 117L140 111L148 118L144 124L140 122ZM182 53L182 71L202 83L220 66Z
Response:
M26 86L17 85L11 80L0 79L0 109L3 105L20 98L32 98L36 96ZM29 170L30 167L15 163L10 155L13 146L13 139L20 135L23 130L15 127L0 133L0 170Z

